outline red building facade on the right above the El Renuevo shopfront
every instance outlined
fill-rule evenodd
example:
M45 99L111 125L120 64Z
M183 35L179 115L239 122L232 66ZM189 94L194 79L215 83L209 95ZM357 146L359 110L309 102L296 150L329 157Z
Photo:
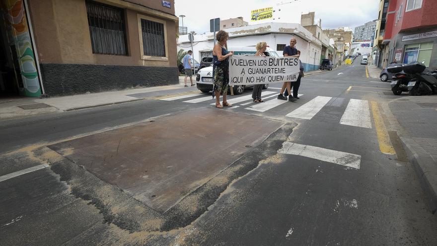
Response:
M420 62L437 69L435 0L390 0L386 15L382 66Z

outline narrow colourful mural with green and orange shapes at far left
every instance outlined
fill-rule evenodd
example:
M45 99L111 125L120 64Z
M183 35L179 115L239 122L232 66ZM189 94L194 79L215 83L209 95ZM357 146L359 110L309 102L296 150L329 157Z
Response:
M10 45L15 45L26 96L41 95L32 41L22 0L0 0Z

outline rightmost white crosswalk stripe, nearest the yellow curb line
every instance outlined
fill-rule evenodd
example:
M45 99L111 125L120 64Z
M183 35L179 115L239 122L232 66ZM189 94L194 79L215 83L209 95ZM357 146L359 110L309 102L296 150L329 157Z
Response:
M340 120L340 124L372 128L368 101L358 99L349 100L345 113Z

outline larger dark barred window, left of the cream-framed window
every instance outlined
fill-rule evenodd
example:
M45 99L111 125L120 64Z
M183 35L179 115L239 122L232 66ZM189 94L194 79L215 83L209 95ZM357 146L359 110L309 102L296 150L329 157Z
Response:
M127 56L124 11L122 8L86 0L92 53Z

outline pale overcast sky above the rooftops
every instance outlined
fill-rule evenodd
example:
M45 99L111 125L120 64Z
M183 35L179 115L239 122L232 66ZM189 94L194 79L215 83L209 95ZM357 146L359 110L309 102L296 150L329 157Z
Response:
M176 16L186 16L183 22L189 32L202 34L210 31L213 18L241 16L249 25L272 21L300 24L300 14L308 12L315 12L316 20L322 19L323 29L350 27L354 30L378 18L378 4L379 0L175 0L174 7ZM275 9L275 20L250 21L250 11L264 7ZM182 26L181 18L179 26Z

